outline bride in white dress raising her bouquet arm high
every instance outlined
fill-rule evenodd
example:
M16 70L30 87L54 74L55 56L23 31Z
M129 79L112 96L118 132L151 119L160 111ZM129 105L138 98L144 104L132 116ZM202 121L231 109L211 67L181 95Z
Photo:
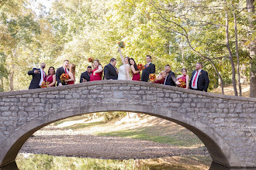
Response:
M123 58L121 47L119 47L118 51L123 62L123 65L119 67L118 80L132 80L130 78L129 57L126 56L125 58Z

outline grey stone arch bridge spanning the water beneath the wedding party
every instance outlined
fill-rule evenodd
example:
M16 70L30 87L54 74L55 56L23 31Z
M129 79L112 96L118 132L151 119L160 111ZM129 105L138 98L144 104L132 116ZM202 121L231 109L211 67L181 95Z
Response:
M25 141L54 121L102 111L161 117L192 131L214 162L256 167L256 99L161 84L102 80L64 87L0 93L0 167Z

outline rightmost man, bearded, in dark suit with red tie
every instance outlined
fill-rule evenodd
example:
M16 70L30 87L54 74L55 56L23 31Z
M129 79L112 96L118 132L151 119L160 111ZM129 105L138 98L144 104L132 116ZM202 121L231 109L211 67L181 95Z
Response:
M189 82L189 88L192 90L206 91L209 87L209 77L205 70L202 70L202 63L195 64L195 71Z

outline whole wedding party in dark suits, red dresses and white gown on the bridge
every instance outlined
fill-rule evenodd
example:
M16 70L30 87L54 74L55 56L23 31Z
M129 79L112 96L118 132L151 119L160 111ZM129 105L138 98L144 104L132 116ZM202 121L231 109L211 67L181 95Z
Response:
M116 68L116 59L110 59L109 64L104 68L99 62L99 59L89 58L88 61L92 63L92 66L88 66L84 73L81 73L80 83L96 80L134 80L144 81L150 83L160 83L169 86L178 86L186 89L207 91L209 86L208 73L202 70L202 63L195 64L195 70L192 72L192 76L189 80L187 70L182 68L182 75L175 76L175 73L171 71L171 66L164 66L164 70L159 73L159 76L155 76L155 65L152 63L152 57L146 56L146 65L137 64L133 58L128 56L123 57L121 47L118 52L122 59L123 65ZM33 76L29 89L63 86L68 84L74 84L75 82L75 65L64 60L63 66L56 70L53 66L49 67L48 73L44 72L46 64L41 63L40 69L33 68L28 74ZM104 76L102 78L102 75ZM141 74L140 74L141 73ZM132 75L132 76L131 76Z

